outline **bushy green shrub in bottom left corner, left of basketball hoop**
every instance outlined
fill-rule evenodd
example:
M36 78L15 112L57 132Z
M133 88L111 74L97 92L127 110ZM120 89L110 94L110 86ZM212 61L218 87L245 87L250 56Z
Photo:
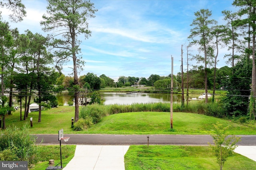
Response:
M18 160L34 164L38 161L39 155L37 154L36 139L30 135L28 130L26 125L22 128L8 127L0 135L0 149L2 151L9 149L11 157L17 156ZM6 152L2 152L4 158L6 158Z

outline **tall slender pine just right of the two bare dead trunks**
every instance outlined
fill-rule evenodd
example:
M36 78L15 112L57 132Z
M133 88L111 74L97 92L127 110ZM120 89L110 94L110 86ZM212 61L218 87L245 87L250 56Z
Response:
M195 58L198 61L198 63L203 62L204 63L204 87L205 87L205 93L206 98L205 102L208 103L208 88L207 88L207 72L208 64L212 64L212 55L213 55L213 49L212 49L212 35L210 34L214 30L214 25L217 24L216 20L210 20L210 16L212 16L212 12L208 9L201 9L198 12L194 13L196 16L196 19L193 20L192 26L193 28L190 29L190 36L189 39L192 40L190 45L198 45L198 51L202 51L204 53L204 56L196 55ZM198 38L199 37L199 38Z

